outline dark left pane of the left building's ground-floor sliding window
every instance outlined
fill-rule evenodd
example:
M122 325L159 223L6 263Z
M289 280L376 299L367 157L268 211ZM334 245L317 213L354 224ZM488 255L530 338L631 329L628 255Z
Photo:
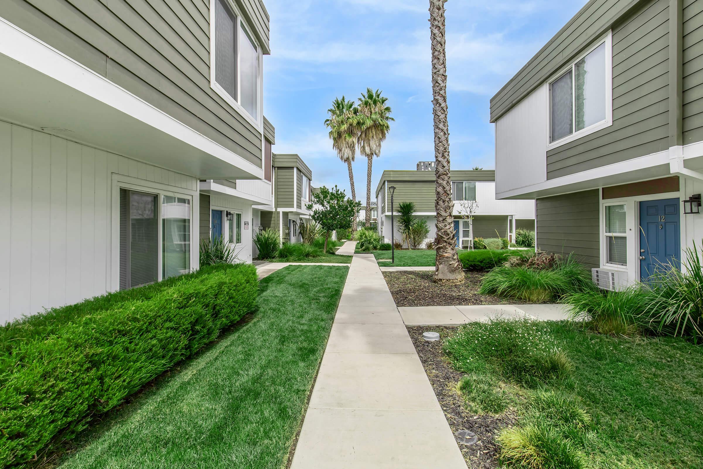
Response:
M120 189L120 290L158 280L156 195Z

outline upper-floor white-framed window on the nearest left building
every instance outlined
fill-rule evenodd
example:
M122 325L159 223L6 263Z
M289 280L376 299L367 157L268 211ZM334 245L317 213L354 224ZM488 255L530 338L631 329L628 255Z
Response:
M212 0L210 17L210 84L259 125L261 49L230 0Z

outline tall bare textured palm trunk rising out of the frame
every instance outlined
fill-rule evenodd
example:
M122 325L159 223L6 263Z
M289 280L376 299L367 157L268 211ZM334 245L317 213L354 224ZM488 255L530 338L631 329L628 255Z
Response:
M464 271L456 254L454 204L449 174L449 122L446 105L446 40L444 2L430 0L430 38L432 40L432 116L434 117L434 211L437 213L437 260L434 280L456 280Z

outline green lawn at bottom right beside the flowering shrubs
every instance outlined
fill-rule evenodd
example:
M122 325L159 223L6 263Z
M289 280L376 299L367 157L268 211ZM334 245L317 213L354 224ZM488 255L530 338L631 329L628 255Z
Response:
M505 374L498 368L476 366L482 363L481 356L489 356L486 354L494 354L493 360L498 361L505 356L504 347L503 350L498 350L501 348L498 345L495 349L487 348L494 346L493 342L485 350L476 345L480 342L475 341L474 335L480 338L479 329L475 329L475 334L470 329L458 329L463 334L458 337L465 337L460 339L465 340L461 346L465 353L455 354L454 364L467 371L471 380L486 376L487 371L489 379L481 378L482 383L502 381L498 387L494 385L495 392L507 392L508 402L512 402L508 407L517 409L521 418L535 412L534 408L529 411L528 408L530 396L537 389L573 399L592 418L592 424L582 433L583 441L574 440L586 458L581 467L703 467L702 347L672 338L614 338L589 333L569 323L538 324L546 328L553 345L562 349L573 364L573 371L563 380L524 387L510 380L506 382ZM496 333L496 328L493 331ZM510 347L513 341L505 342L505 347ZM489 357L488 363L490 360ZM474 364L473 368L467 362ZM488 391L485 387L483 390L475 387L473 392L467 397L467 406L480 409L486 403ZM542 409L536 411L536 417L527 418L532 422L549 421L558 412L559 409Z

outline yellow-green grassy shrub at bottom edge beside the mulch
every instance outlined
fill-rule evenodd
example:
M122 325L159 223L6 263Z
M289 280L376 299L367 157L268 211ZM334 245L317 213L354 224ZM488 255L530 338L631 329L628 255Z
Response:
M501 462L525 469L585 469L588 458L553 425L531 421L504 428L496 437Z

